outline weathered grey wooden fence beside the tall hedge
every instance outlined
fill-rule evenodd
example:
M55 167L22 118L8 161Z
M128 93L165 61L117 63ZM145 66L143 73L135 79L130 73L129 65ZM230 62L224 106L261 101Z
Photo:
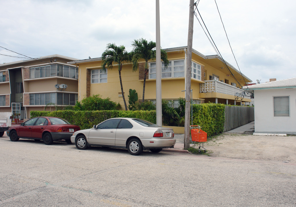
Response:
M225 106L224 132L255 120L254 107Z

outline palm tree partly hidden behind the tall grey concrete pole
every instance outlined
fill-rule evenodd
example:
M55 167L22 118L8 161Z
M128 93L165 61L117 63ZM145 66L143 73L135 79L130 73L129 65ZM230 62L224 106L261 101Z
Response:
M142 102L144 102L146 75L149 72L148 61L155 60L156 58L156 43L153 41L148 42L146 39L141 38L139 40L134 40L131 45L133 46L133 50L130 54L133 71L138 69L138 61L140 59L145 60L145 73L142 97ZM167 68L169 64L168 55L163 49L160 50L160 59L163 60L165 68Z

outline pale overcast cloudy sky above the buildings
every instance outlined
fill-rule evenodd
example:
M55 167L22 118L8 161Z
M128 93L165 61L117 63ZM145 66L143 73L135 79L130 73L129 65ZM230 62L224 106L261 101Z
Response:
M227 62L253 82L296 77L296 1L216 2L238 66L215 0L200 0L197 8ZM0 63L23 60L9 57L23 56L6 49L33 58L60 54L87 59L101 57L108 43L129 52L134 39L156 40L155 0L0 0L0 5ZM188 21L189 0L160 0L163 49L187 45ZM195 17L193 49L216 54Z

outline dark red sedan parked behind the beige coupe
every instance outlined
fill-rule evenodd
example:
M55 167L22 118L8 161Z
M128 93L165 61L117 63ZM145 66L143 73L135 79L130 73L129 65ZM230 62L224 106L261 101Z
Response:
M65 139L71 144L70 137L79 126L70 124L67 120L57 117L35 117L20 125L11 126L7 133L12 142L23 139L43 140L44 144L51 145L54 140Z

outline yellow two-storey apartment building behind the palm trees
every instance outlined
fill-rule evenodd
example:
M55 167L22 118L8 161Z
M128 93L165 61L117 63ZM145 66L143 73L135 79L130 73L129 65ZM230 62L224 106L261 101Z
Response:
M185 97L187 47L165 49L170 61L169 67L162 63L162 99L176 106L179 97ZM68 64L78 67L78 100L94 94L102 98L109 97L124 108L118 67L113 65L106 73L101 70L102 58L70 61ZM226 65L227 66L226 66ZM131 63L124 63L121 71L123 91L128 105L128 91L135 89L139 100L142 97L144 82L144 60L139 68L132 72ZM191 89L194 104L223 103L245 105L250 97L242 90L246 82L252 82L236 68L223 62L217 55L205 56L196 50L192 52ZM149 74L146 77L145 100L156 100L156 63L149 62Z

